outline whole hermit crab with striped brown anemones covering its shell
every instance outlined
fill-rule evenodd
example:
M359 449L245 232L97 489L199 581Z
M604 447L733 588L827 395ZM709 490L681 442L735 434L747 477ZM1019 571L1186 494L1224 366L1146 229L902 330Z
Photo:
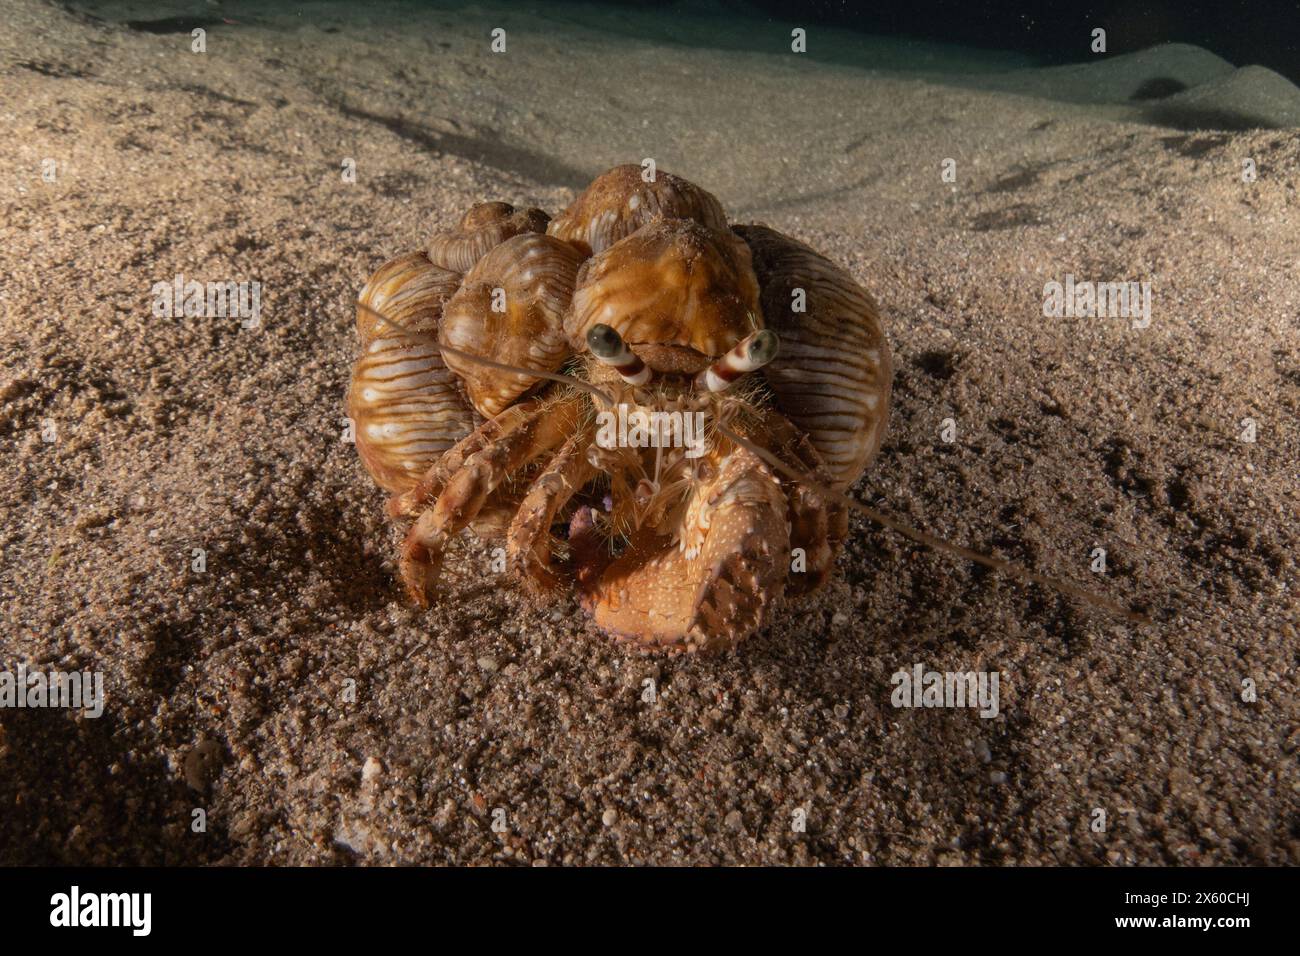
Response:
M474 206L374 273L356 325L348 415L413 519L411 597L437 598L468 527L650 649L733 646L819 587L889 411L879 311L844 269L637 165L554 220Z

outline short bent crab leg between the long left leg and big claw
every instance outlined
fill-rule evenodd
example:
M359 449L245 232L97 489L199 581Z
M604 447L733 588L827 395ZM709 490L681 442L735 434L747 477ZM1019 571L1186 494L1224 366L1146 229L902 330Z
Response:
M510 524L506 545L510 562L538 596L560 588L560 579L551 570L551 524L556 512L595 475L586 454L590 444L590 434L575 434L564 442L528 489Z

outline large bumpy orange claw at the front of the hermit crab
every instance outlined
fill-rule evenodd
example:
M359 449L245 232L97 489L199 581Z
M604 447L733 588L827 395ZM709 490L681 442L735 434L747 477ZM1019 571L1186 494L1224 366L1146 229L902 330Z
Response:
M571 523L582 602L601 630L654 650L725 650L760 628L781 600L789 554L786 499L744 449L710 455L679 540L634 532L602 554L589 511Z

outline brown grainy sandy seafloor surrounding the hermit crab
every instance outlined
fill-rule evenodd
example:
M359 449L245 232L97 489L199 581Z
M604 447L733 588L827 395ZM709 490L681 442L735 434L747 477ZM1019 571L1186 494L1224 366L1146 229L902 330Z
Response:
M182 14L205 55L124 25ZM99 670L107 705L0 710L0 861L1300 861L1295 87L1188 47L944 79L872 69L937 48L599 16L630 26L3 0L0 661ZM720 659L629 654L472 542L410 607L339 440L354 295L474 200L556 212L645 156L880 300L859 498L1153 623L857 518L828 588ZM155 319L178 273L260 281L263 326ZM1066 273L1150 281L1149 328L1044 317ZM914 663L997 670L1000 715L892 708Z

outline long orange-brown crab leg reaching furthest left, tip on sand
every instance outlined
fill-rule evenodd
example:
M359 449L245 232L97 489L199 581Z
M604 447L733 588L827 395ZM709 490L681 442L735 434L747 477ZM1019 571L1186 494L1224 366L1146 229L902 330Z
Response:
M576 402L534 406L514 431L465 459L438 502L420 515L402 544L398 568L417 604L428 607L433 602L447 544L478 515L488 496L529 462L563 442L576 424Z

